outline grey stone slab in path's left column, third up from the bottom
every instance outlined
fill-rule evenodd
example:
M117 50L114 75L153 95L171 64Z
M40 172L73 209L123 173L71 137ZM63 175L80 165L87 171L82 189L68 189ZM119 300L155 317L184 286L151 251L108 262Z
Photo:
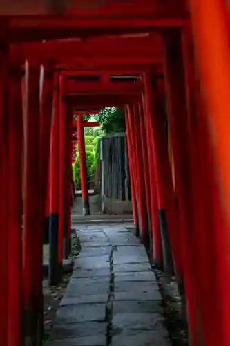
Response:
M77 304L59 307L56 323L104 322L106 318L105 304Z

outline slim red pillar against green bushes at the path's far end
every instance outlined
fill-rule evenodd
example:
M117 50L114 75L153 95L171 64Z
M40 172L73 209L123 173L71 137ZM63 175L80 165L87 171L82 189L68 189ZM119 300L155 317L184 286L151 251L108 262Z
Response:
M86 167L86 148L84 138L83 116L77 116L77 139L79 149L81 188L82 188L82 212L83 215L90 214L89 198L88 198L88 181Z

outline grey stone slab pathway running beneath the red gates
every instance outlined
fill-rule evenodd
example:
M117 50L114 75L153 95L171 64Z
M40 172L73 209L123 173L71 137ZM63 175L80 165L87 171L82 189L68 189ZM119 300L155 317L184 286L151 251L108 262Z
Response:
M79 226L82 251L57 311L52 346L170 346L144 246L126 224Z

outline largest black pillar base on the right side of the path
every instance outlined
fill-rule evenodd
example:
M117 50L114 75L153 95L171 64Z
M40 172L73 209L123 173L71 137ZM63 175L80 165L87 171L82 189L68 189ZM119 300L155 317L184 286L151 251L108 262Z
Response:
M173 255L171 252L171 244L169 239L169 230L166 219L166 212L164 209L160 209L158 211L159 219L160 219L160 230L162 235L162 251L164 258L164 271L166 273L173 275L174 274L174 266L173 266Z

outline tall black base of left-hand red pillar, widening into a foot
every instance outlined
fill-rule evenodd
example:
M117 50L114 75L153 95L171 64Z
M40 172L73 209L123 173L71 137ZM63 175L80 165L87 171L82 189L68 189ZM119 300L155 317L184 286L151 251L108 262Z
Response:
M50 214L49 222L49 244L50 244L50 260L48 282L50 286L59 284L62 280L62 263L58 262L58 224L59 215Z

